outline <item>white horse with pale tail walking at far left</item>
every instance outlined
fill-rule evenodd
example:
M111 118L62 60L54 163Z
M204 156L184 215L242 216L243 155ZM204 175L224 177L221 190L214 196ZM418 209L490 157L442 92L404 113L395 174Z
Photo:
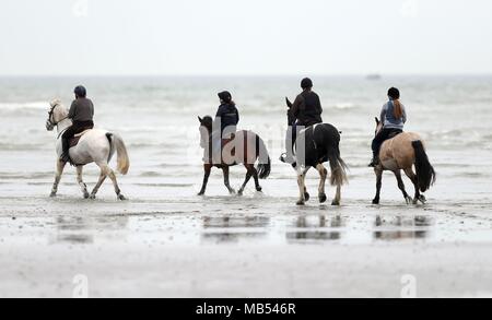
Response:
M48 112L48 120L46 121L46 129L52 131L57 127L57 174L55 176L55 183L52 185L50 197L56 197L58 192L58 185L67 165L66 162L60 161L62 153L61 135L65 130L72 126L72 120L68 118L69 110L62 106L61 102L56 99L50 103L50 110ZM109 177L115 187L116 195L119 200L126 200L125 195L119 190L116 175L108 166L113 155L117 152L117 170L126 175L130 167L130 159L128 157L127 149L121 138L115 133L105 130L92 129L87 130L80 138L79 143L71 147L70 158L72 163L77 164L77 182L79 183L85 199L95 199L97 191L103 185L106 177ZM91 194L87 192L87 186L82 179L82 167L90 163L95 163L101 168L99 180L97 181Z

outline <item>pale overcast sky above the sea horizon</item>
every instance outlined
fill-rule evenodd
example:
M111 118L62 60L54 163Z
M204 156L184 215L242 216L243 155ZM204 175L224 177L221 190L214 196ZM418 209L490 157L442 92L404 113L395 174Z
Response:
M492 73L490 0L1 0L0 75Z

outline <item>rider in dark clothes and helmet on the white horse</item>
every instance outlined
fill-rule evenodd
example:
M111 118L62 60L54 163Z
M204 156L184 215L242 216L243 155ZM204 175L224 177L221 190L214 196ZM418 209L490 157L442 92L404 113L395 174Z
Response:
M61 145L63 153L60 159L62 162L69 162L69 141L77 133L83 132L87 129L94 128L94 105L90 99L86 98L86 90L82 85L75 87L74 92L75 99L73 100L68 118L72 120L72 126L69 127L61 135Z

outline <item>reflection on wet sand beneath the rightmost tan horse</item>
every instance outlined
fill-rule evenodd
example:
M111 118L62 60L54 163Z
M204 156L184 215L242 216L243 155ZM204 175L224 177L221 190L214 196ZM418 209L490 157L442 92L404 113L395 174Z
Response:
M377 240L424 239L430 236L432 223L429 216L383 218L378 215L373 236Z

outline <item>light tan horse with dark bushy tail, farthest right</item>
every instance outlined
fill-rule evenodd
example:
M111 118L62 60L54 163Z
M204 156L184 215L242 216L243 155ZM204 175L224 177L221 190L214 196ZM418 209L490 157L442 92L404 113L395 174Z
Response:
M376 134L383 130L383 123L376 118ZM413 173L413 165L415 173ZM403 193L407 204L417 204L419 201L425 203L425 192L435 182L435 171L429 162L423 140L417 133L403 132L383 143L379 151L379 163L374 168L376 173L376 197L373 204L379 204L383 171L390 170L398 180L398 188ZM410 178L415 188L415 198L408 195L405 190L401 170Z

